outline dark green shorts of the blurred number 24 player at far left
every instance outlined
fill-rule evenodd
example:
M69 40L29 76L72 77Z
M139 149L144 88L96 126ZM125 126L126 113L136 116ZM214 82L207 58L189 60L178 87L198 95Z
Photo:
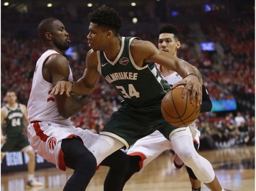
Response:
M29 141L25 135L18 137L7 137L6 143L1 148L1 152L10 152L14 149L22 150L29 145Z

